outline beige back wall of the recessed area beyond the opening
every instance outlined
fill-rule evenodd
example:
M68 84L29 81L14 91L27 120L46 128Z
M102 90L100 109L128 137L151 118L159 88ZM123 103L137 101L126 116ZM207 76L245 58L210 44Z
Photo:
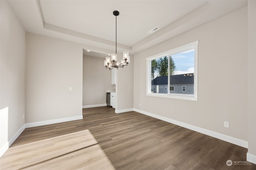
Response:
M103 58L83 57L83 106L106 104L106 90L114 90L111 71L103 63Z

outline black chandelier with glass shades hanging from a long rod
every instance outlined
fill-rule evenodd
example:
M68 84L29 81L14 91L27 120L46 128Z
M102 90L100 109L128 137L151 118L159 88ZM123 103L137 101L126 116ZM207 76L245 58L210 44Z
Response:
M114 16L118 16L119 12L114 11L113 12ZM109 70L112 70L113 68L118 69L119 67L124 68L124 66L127 66L128 63L130 63L130 56L128 51L123 52L123 59L121 59L121 62L116 61L117 59L117 54L112 53L111 58L106 57L106 60L104 60L104 66L108 68Z

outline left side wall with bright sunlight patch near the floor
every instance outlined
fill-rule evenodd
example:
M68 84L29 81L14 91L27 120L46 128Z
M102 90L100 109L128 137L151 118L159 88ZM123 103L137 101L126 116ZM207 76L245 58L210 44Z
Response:
M26 32L10 8L0 1L0 156L24 126ZM18 134L19 135L19 134Z

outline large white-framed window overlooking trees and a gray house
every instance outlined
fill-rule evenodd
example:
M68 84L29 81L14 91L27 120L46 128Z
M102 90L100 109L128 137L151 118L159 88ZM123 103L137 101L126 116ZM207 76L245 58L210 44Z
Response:
M198 41L195 41L146 58L146 95L197 100L197 54ZM151 91L152 86L157 89Z

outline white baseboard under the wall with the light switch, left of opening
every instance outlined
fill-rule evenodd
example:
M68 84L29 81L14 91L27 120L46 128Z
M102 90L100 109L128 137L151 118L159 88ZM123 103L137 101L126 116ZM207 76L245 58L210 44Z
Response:
M65 121L72 121L72 120L79 120L79 119L83 119L83 115L73 116L73 117L65 117L65 118L60 118L60 119L52 119L52 120L46 120L46 121L38 121L38 122L32 122L32 123L26 123L26 128L42 126L42 125L50 125L50 124L54 124L54 123L61 123L61 122L65 122Z

